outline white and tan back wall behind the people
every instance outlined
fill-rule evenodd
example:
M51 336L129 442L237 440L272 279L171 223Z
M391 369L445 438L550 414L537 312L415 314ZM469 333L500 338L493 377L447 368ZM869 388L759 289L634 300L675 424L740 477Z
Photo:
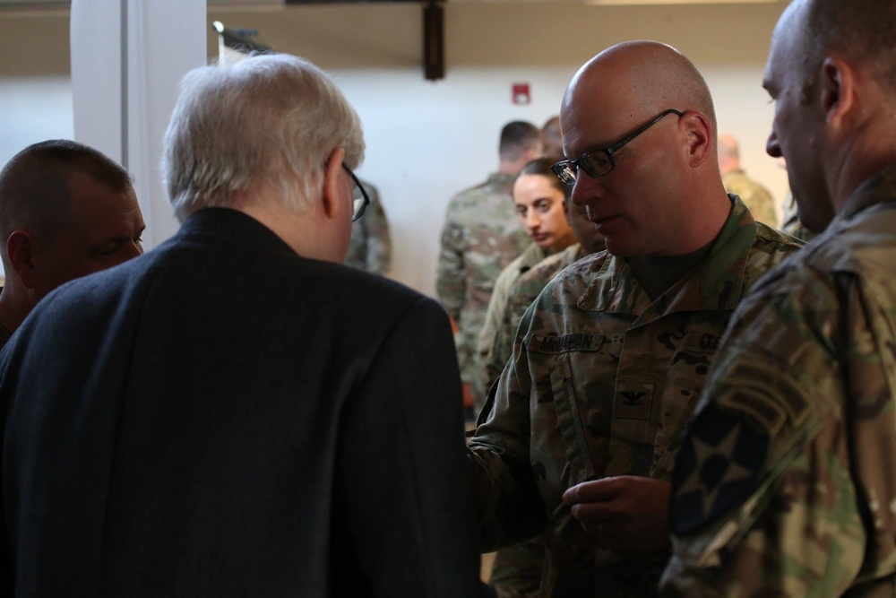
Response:
M333 74L364 122L367 158L359 174L380 188L392 222L392 277L432 294L445 205L451 195L495 169L501 126L518 118L540 126L556 114L575 70L625 39L659 39L694 60L713 91L719 128L740 137L745 168L780 202L787 180L763 151L772 107L761 82L771 30L784 6L449 3L447 71L439 82L423 77L418 4L219 10L210 11L209 23L217 19L230 27L259 30L274 48L306 56ZM60 19L17 18L13 23L0 13L0 35L4 40L18 36L25 47L13 51L13 57L0 56L0 102L5 100L4 85L22 73L56 75L62 77L57 85L65 87L67 48L59 48L56 38L65 36L67 44L68 34L62 31L67 22L60 24ZM199 34L208 35L209 55L214 56L217 40L211 25ZM530 83L529 106L512 105L513 82ZM39 95L46 97L38 100ZM70 119L70 110L70 100L62 95L35 89L30 108L18 113L17 126L41 138L43 126ZM0 114L3 122L6 113ZM0 135L0 157L23 145Z

